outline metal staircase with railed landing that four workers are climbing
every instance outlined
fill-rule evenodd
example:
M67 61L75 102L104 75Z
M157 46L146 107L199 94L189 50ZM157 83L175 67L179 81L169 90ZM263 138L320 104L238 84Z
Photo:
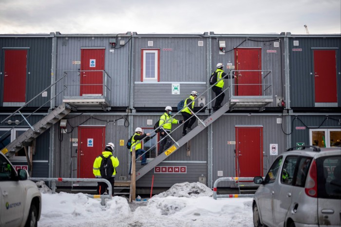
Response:
M227 91L227 103L223 105L220 109L215 111L213 114L211 114L206 120L201 121L197 116L196 113L193 113L194 117L196 117L199 120L199 124L193 128L186 136L182 137L180 140L175 141L173 138L170 137L171 140L174 141L174 144L170 146L166 151L164 151L161 155L155 157L151 162L149 162L146 166L139 169L136 172L135 178L136 180L140 179L143 175L147 174L149 171L151 171L156 165L161 163L163 160L165 160L170 155L174 154L176 150L178 150L181 146L185 145L189 140L194 138L196 135L198 135L202 130L204 130L208 125L213 123L215 120L220 118L224 113L227 111L231 111L233 109L237 108L243 108L243 109L258 109L259 111L264 110L264 106L273 102L273 96L272 96L272 73L270 70L243 70L244 72L257 71L259 75L262 76L262 83L256 84L258 87L262 87L261 93L259 96L237 96L235 95L235 88L238 86L250 86L250 84L236 84L234 80L231 78L230 75L241 73L240 71L231 70L225 77L228 77L228 85L223 92ZM222 78L224 79L224 78ZM209 87L207 90L205 90L203 93L211 91L211 88L215 86L219 81L217 81L214 85ZM251 86L254 86L252 84ZM202 94L201 94L202 95ZM199 96L195 99L197 100ZM217 97L212 99L208 104L203 106L198 112L206 108L210 103L212 103ZM194 101L195 101L194 100ZM187 105L191 105L191 102ZM181 110L178 111L176 114L172 116L176 116L177 114L181 114ZM161 127L161 126L160 126ZM178 126L177 128L179 128ZM176 128L176 129L177 129ZM176 130L175 129L175 130ZM169 135L170 136L170 135ZM142 141L142 140L141 140ZM141 142L140 141L140 142ZM160 141L159 141L160 142ZM151 148L152 149L152 148ZM146 151L147 153L148 151Z

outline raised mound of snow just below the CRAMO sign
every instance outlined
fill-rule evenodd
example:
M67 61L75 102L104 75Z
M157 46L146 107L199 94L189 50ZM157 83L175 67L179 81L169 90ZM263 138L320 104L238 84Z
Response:
M201 196L213 196L213 192L210 188L206 185L195 182L195 183L178 183L174 184L170 187L169 190L166 192L161 192L160 194L154 195L154 197L167 197L167 196L174 196L174 197L201 197Z

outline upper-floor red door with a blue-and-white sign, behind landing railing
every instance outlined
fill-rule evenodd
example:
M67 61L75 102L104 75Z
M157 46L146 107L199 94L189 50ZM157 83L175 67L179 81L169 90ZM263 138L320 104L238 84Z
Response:
M81 49L80 95L103 94L104 49Z

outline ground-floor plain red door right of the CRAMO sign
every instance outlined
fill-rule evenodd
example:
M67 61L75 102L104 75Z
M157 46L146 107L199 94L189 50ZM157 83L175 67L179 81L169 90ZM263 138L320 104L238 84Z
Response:
M263 176L263 127L236 127L236 176Z

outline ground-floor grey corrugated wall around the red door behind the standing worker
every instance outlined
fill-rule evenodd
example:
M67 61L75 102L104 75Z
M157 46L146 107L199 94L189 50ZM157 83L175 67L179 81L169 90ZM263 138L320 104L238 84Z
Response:
M117 168L118 175L117 176L127 176L128 175L128 157L130 156L128 150L123 144L120 146L119 141L125 140L127 141L128 137L128 127L124 125L118 125L117 120L125 117L124 115L93 115L85 114L85 115L77 115L72 114L68 115L64 119L67 119L68 133L60 134L60 127L57 124L55 129L55 152L54 152L54 173L53 177L76 177L77 176L77 146L72 146L70 139L78 138L78 125L105 125L105 142L113 142L115 144L115 153L114 155L120 161L120 165ZM115 121L114 121L115 120ZM109 121L109 122L108 122ZM122 120L121 120L122 121ZM71 128L71 126L73 128ZM126 123L126 125L128 125ZM102 151L98 151L98 155L101 154ZM94 160L95 161L95 160ZM71 168L72 166L72 168ZM89 166L88 168L93 168ZM71 172L72 170L72 172ZM70 186L70 183L62 183L61 186Z

